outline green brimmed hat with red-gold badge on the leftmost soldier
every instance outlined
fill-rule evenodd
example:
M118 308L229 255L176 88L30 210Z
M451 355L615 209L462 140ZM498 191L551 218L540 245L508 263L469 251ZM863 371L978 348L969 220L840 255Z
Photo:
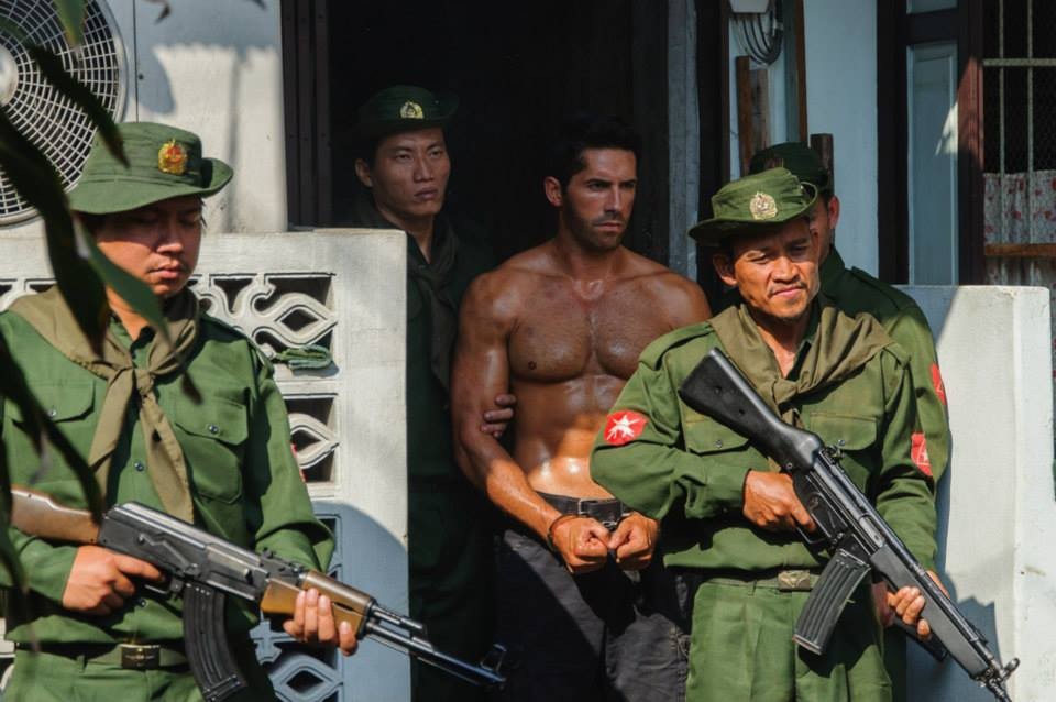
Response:
M89 215L124 212L184 195L208 197L231 179L231 167L201 155L197 134L153 122L118 124L129 165L96 134L69 208Z

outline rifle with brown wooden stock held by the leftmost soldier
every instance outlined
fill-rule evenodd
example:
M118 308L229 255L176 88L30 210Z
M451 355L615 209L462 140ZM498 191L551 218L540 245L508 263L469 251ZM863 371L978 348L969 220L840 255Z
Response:
M330 597L338 623L440 670L483 687L505 682L494 646L480 665L437 650L425 626L377 604L371 595L326 574L254 553L182 519L135 502L117 505L99 524L91 513L57 504L30 490L11 490L11 524L25 534L74 544L97 544L153 563L166 574L163 586L146 586L184 599L187 660L207 702L222 702L246 687L223 629L226 595L260 603L265 614L292 615L297 594L315 588Z

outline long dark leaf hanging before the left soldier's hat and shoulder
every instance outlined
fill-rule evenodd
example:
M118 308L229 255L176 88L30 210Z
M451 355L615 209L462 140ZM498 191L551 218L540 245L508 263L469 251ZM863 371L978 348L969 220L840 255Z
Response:
M58 289L77 323L98 350L110 308L99 276L78 254L66 194L47 157L11 123L0 108L0 168L14 189L44 218L47 255Z

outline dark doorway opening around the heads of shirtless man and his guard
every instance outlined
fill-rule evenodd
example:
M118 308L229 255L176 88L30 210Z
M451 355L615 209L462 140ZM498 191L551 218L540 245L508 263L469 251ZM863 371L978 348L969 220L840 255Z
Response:
M667 262L666 6L634 0L284 2L287 80L294 78L293 63L294 83L300 86L293 103L287 96L287 124L304 122L295 125L296 134L287 129L287 143L319 154L290 158L293 180L310 180L306 167L316 173L300 196L292 185L293 223L340 223L360 187L351 141L356 108L387 85L415 84L458 94L459 112L447 130L453 164L448 208L487 231L502 257L553 233L542 196L543 154L561 119L587 110L630 121L642 134L645 154L626 243ZM305 70L312 73L308 88ZM305 101L323 109L329 120L310 114ZM305 139L306 130L315 143ZM329 157L322 154L327 142Z

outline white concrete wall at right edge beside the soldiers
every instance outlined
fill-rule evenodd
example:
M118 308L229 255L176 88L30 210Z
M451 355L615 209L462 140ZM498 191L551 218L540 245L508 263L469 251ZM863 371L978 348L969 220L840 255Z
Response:
M908 287L935 333L953 454L939 487L939 568L999 658L1011 696L1048 702L1056 681L1056 489L1048 290ZM914 702L993 698L953 661L911 652Z

